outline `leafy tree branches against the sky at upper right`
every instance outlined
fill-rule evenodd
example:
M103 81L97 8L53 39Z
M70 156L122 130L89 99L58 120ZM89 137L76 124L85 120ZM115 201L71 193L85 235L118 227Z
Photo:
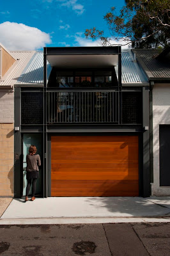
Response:
M125 0L120 15L112 7L104 16L111 36L97 28L86 29L86 38L100 39L102 45L112 45L112 40L132 43L135 48L166 47L170 44L169 0Z

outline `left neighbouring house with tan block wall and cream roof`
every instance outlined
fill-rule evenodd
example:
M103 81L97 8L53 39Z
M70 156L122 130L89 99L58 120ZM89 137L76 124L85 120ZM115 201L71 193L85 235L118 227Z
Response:
M0 44L0 196L13 196L14 84L33 52Z

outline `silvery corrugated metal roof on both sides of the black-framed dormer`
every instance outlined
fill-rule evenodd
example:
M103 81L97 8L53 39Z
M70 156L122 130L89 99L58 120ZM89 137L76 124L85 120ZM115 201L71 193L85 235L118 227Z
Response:
M143 71L134 62L133 54L130 50L123 51L121 54L122 59L122 83L147 83L147 78ZM51 71L50 64L47 62L47 79ZM116 68L118 75L118 68ZM22 75L19 77L17 83L20 84L43 84L43 52L36 52L31 58L26 68L23 70Z

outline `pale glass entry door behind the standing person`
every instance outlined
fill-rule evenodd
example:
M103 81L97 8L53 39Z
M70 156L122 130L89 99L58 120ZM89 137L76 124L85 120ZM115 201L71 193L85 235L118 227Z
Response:
M36 146L36 154L39 154L42 160L42 135L41 134L23 134L23 193L22 195L26 195L26 186L27 186L27 180L26 180L26 155L29 153L29 147L31 145ZM42 194L42 168L39 170L39 179L36 182L36 195ZM31 195L32 186L29 191L29 194Z

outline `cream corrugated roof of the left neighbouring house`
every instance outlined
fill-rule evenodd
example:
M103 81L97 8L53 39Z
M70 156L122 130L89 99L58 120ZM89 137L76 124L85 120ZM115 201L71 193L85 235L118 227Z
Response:
M26 67L27 62L34 53L35 51L12 51L12 55L16 61L6 72L3 79L0 80L0 86L13 86L17 83L23 68Z

